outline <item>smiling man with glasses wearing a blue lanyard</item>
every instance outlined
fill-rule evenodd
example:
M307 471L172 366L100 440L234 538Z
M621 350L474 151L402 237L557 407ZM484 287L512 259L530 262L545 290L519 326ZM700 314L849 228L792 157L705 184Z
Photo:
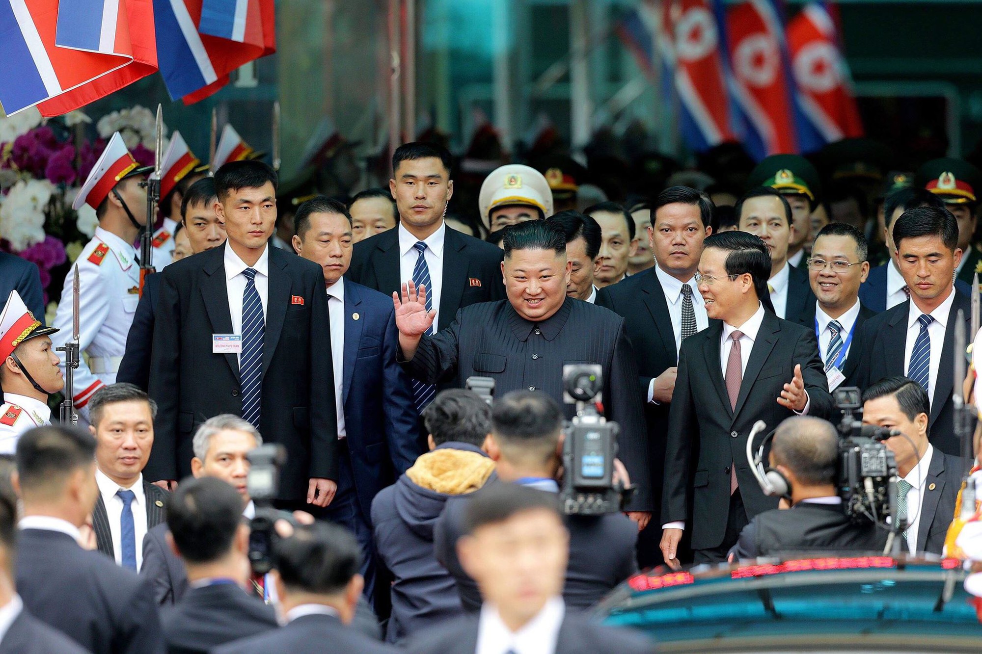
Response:
M855 386L858 348L852 338L876 312L859 301L859 285L869 274L866 237L846 223L822 228L808 258L808 281L815 294L814 325L829 390Z

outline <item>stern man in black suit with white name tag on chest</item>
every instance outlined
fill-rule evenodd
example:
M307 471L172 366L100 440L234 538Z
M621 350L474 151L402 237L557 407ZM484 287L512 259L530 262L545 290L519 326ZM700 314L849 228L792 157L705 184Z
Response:
M280 500L327 506L338 476L331 334L320 266L271 247L276 173L236 161L215 175L228 241L173 263L161 281L150 395L160 412L144 474L191 472L195 427L245 417L283 445ZM245 257L245 258L244 258Z

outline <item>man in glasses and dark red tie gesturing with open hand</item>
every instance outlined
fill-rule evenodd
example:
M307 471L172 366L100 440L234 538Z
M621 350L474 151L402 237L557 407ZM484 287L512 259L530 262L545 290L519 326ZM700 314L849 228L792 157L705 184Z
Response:
M765 310L770 256L742 232L706 239L699 292L722 322L685 339L669 412L662 553L678 565L682 528L696 563L722 561L748 518L773 509L746 462L754 422L832 412L815 333ZM691 524L685 525L691 507Z

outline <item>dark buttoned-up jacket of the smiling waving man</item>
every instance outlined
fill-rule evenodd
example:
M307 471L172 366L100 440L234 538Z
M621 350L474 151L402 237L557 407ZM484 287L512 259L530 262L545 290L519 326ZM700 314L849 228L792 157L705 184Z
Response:
M434 336L423 336L409 376L436 384L457 376L462 382L477 375L495 380L499 397L518 389L540 390L564 407L563 365L599 363L603 367L603 404L607 419L621 425L619 458L627 466L637 493L632 511L651 511L647 432L637 366L627 340L624 318L588 302L567 298L546 320L531 322L518 315L508 300L473 304Z

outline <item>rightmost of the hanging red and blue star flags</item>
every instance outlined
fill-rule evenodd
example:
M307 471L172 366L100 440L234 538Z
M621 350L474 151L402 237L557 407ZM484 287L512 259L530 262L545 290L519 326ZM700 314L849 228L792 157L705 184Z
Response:
M810 135L817 135L819 144L863 136L836 22L824 2L809 3L791 20L788 48L804 119L802 145Z

